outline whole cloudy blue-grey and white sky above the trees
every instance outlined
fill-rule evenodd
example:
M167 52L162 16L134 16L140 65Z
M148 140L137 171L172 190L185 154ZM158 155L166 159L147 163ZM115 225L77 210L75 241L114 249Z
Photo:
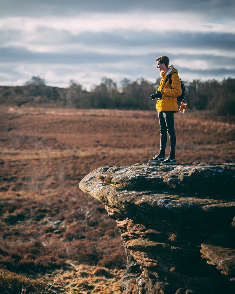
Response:
M234 0L0 0L0 85L155 82L165 54L185 82L234 78L234 16Z

